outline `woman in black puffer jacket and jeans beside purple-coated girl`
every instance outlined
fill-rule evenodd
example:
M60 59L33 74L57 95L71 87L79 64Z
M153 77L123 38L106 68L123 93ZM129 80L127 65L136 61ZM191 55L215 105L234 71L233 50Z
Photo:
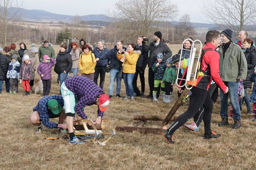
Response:
M72 58L69 52L66 50L67 45L61 45L60 51L56 57L56 65L54 66L55 73L58 74L60 80L60 86L68 76L72 67Z

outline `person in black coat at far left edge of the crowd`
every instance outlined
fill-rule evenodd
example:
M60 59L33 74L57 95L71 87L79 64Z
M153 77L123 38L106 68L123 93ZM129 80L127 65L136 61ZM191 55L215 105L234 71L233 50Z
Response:
M0 53L0 93L2 93L3 84L5 81L6 92L10 91L10 79L6 77L10 60L8 55L11 48L6 46Z

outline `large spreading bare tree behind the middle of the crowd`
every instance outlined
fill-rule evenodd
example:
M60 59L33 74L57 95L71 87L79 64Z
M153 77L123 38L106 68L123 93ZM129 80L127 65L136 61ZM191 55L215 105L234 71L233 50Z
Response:
M152 27L157 22L167 21L177 16L178 7L170 0L118 0L115 3L115 17L121 18L118 24L127 22L126 26L132 25L133 32L138 35L148 36ZM125 29L125 28L123 28Z

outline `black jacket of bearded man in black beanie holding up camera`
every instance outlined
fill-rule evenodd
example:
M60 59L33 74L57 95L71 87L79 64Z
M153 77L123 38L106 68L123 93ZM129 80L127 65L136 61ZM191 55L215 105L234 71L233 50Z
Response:
M159 45L157 45L157 46L156 46L156 41L152 41L151 43L149 43L147 45L145 44L145 42L142 41L142 50L150 51L149 58L148 58L149 68L152 68L153 64L156 61L156 56L158 53L163 54L164 60L167 60L173 54L171 49L165 43L162 43L161 41L159 42Z

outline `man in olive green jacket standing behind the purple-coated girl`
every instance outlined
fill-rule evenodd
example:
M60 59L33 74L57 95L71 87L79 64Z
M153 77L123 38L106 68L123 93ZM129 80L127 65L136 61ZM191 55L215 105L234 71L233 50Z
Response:
M55 59L54 49L52 46L49 46L49 42L47 40L44 40L43 45L40 46L38 50L38 57L40 63L44 61L44 55L48 55L50 58Z

